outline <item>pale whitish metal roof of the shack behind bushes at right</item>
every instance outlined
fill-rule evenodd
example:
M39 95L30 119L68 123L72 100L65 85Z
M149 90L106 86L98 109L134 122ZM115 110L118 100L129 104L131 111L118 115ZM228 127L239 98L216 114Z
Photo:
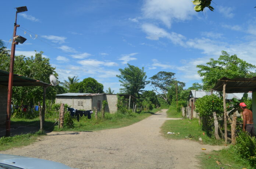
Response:
M191 93L192 93L193 98L202 98L203 96L211 95L211 92L209 92L209 91L191 90ZM218 94L218 91L213 91L213 94ZM231 100L232 98L237 98L238 100L240 100L243 97L243 94L244 93L227 93L226 99ZM252 92L248 92L248 98L252 98Z

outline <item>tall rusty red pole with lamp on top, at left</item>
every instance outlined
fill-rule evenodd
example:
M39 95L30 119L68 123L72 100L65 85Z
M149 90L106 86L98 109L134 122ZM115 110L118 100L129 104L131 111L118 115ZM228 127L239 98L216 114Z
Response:
M15 56L15 42L16 30L19 25L17 25L17 13L28 11L26 7L16 8L14 31L13 31L13 43L11 44L11 58L10 58L10 69L9 69L9 81L8 81L8 95L7 95L7 114L6 114L6 136L10 136L11 129L11 97L13 94L13 67L14 67L14 56Z

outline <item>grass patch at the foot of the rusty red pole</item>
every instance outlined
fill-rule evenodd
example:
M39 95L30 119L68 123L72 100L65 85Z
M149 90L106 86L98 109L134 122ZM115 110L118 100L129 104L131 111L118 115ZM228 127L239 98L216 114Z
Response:
M22 135L15 135L11 137L0 138L0 151L8 150L14 147L27 146L34 143L39 136L44 135L44 132L28 133Z

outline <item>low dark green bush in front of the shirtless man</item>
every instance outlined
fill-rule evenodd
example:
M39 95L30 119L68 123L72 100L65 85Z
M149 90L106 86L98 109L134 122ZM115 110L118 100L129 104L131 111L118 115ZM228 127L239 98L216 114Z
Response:
M244 159L247 159L252 167L256 167L256 140L246 132L238 133L235 151Z

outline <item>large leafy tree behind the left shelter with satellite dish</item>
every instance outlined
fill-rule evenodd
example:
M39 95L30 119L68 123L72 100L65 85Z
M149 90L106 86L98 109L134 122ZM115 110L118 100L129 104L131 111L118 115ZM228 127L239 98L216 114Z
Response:
M36 52L35 57L26 57L24 55L15 56L14 73L21 74L25 77L33 78L50 84L49 75L54 74L55 68L51 67L50 59L42 56L43 52ZM1 70L9 71L10 57L1 55L0 57ZM46 89L46 99L55 99L57 93L56 87L48 87ZM42 101L43 88L36 87L13 87L13 101L21 104L36 104Z

